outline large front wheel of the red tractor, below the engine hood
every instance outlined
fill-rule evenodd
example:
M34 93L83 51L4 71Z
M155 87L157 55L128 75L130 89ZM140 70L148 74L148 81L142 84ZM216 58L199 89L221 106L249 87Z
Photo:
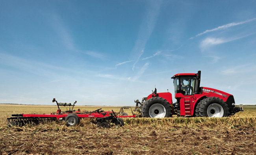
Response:
M199 115L201 117L228 117L228 105L218 97L208 97L200 101Z

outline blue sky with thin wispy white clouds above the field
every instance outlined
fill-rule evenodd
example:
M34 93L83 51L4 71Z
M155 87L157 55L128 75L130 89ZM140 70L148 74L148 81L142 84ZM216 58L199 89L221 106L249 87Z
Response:
M256 104L253 0L0 4L0 103L131 106L201 70L201 86Z

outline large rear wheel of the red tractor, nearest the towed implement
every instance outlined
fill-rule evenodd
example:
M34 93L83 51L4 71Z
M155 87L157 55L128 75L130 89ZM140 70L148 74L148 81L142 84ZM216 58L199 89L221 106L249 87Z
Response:
M143 117L152 118L172 117L172 108L164 98L152 97L143 104L141 114Z

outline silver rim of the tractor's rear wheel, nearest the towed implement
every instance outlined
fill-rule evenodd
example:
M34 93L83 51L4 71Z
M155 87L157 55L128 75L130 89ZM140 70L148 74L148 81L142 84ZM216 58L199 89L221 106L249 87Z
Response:
M149 115L151 118L163 118L165 117L166 110L162 104L156 103L149 108Z

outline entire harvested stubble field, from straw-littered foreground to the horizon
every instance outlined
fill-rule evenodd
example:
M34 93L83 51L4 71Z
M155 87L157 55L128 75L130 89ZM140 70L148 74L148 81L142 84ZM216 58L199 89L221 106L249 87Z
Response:
M120 107L76 106L82 111ZM9 154L251 154L256 152L256 106L225 118L127 118L124 126L98 128L94 119L7 128L17 113L52 113L57 106L0 104L0 155ZM65 111L65 108L62 108ZM130 111L125 111L131 114Z

